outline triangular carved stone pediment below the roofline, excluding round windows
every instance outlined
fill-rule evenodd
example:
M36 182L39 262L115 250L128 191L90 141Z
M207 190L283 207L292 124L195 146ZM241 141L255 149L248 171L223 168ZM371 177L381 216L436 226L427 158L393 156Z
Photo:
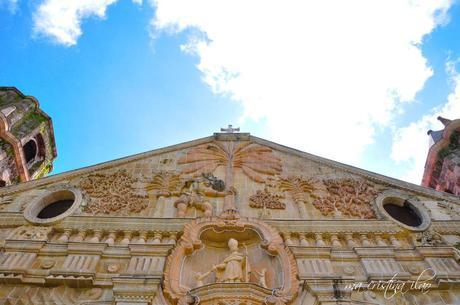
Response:
M435 205L436 217L459 214L455 196L244 133L215 134L6 188L0 208L20 212L68 188L82 197L72 215L83 216L193 218L234 208L260 219L383 219L376 200L388 189L428 210Z

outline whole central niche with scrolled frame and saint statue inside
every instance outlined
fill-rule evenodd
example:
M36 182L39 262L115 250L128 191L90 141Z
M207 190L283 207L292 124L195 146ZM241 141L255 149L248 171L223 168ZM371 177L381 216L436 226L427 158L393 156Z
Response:
M297 289L293 255L258 220L193 220L166 261L164 293L173 304L288 304Z

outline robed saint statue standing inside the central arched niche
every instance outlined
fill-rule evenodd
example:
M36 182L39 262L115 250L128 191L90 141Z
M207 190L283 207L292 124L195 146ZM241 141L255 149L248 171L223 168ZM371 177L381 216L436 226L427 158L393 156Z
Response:
M198 273L196 275L197 286L202 286L204 277L212 272L215 272L216 281L218 283L249 282L251 269L247 253L242 254L238 251L238 241L234 238L230 238L227 245L231 252L230 255L228 255L222 263L213 266L212 269L205 274L202 275Z

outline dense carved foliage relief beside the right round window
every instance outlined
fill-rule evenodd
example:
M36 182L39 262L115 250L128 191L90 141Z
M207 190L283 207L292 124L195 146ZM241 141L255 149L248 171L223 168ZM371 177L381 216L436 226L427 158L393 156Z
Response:
M313 202L323 215L376 218L371 202L377 196L377 191L368 182L346 178L323 180L323 183L328 195Z

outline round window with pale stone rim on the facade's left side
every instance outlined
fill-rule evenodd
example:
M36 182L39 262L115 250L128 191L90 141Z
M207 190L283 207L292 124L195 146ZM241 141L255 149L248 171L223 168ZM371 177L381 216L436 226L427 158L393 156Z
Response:
M71 215L81 200L81 192L77 189L47 191L27 206L24 217L37 224L54 223Z

